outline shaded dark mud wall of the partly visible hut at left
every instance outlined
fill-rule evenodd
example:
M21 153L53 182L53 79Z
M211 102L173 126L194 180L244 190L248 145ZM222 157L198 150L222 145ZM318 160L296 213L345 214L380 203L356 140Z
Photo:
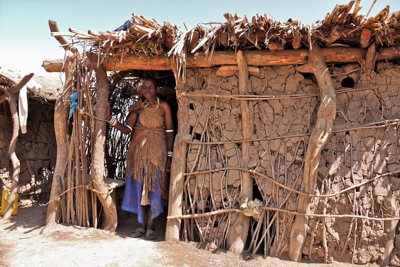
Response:
M19 132L15 153L20 161L18 193L49 190L52 170L56 160L56 143L53 122L54 108L28 99L27 132ZM0 190L11 186L9 173L12 165L8 145L12 135L12 120L8 104L0 106ZM34 175L33 179L32 176ZM0 192L1 193L1 192Z

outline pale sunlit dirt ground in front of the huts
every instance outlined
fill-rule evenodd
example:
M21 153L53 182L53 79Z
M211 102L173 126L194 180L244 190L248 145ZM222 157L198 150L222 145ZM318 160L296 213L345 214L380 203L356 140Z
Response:
M44 227L44 203L20 203L18 214L0 218L0 266L319 266L287 258L235 255L206 243L163 241L128 236L133 215L119 219L117 231L57 224ZM165 217L157 220L163 228ZM329 266L348 266L333 262Z

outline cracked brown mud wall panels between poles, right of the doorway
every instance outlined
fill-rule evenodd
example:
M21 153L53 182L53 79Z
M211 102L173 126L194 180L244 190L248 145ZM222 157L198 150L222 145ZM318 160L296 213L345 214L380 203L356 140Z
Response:
M252 170L256 184L253 195L262 198L264 207L295 211L294 190L300 188L303 158L319 106L316 80L297 72L294 66L261 67L259 77L249 76L247 94L253 97L246 99L252 121L251 160L244 166L238 100L243 96L237 95L235 75L219 77L216 70L186 72L191 125L187 172L197 173L186 177L184 212L239 208L241 174L237 167ZM329 70L336 90L337 114L333 133L321 154L315 194L336 193L382 176L345 193L314 197L311 212L398 215L398 173L386 173L400 170L396 127L400 115L400 68L379 63L378 73L370 75L362 73L356 64ZM395 205L390 209L388 203ZM225 246L229 226L236 216L230 212L185 220L185 238L195 239L197 233L200 239ZM250 250L259 252L261 247L265 255L272 256L285 253L292 222L290 213L262 210L260 219L252 224ZM310 218L303 257L359 264L376 261L390 239L384 227L384 222L378 220ZM390 263L398 265L400 238L395 240Z

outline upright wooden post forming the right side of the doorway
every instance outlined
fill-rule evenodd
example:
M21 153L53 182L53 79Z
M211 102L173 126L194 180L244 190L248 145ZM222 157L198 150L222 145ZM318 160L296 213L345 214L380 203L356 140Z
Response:
M182 91L184 88L183 80L178 75L177 61L172 57L171 62L172 71L176 80L176 90ZM177 112L178 128L173 143L173 157L171 174L169 181L169 195L168 195L168 216L175 216L182 214L182 199L183 199L183 180L186 172L186 148L187 143L182 142L185 134L190 132L190 122L187 119L189 112L189 101L187 96L178 98L179 109ZM165 240L179 239L180 219L167 220L165 229Z

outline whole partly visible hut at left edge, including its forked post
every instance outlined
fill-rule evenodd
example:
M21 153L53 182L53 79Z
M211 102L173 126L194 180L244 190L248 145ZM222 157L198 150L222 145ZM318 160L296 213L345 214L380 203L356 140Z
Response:
M0 194L9 190L31 200L50 192L57 153L54 103L62 87L59 80L32 76L0 69Z

